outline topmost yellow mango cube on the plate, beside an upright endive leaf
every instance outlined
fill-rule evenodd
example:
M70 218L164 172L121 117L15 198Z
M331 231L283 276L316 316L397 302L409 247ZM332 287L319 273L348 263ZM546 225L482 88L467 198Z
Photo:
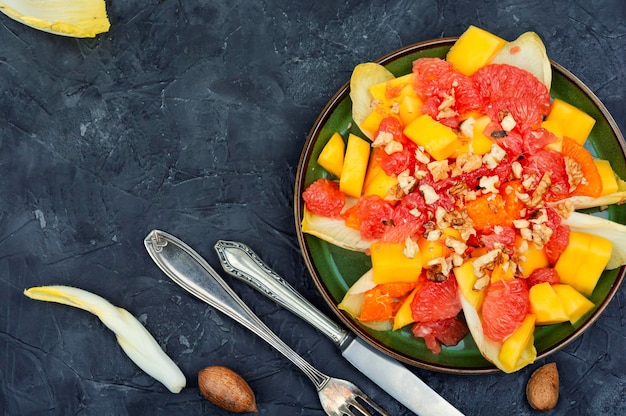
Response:
M446 61L465 75L472 75L485 66L502 49L506 41L498 36L470 26L452 45Z

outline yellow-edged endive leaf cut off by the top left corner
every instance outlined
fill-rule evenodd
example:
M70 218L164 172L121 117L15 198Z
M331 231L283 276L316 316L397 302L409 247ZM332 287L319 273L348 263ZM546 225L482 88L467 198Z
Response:
M92 38L109 30L104 0L0 0L0 11L35 29Z

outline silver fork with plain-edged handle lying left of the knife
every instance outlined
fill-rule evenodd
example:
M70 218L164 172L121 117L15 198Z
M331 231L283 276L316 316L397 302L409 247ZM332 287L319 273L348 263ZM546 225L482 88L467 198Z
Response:
M144 245L154 262L174 282L254 332L300 368L315 385L322 408L329 416L355 416L353 410L364 416L390 416L357 386L322 373L293 351L187 244L163 231L153 230L144 239Z

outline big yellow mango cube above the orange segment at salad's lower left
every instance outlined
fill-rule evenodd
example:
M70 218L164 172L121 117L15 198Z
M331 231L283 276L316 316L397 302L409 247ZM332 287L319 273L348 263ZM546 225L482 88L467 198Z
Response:
M376 284L417 281L422 272L422 257L418 252L409 258L404 248L404 243L372 243L370 252Z

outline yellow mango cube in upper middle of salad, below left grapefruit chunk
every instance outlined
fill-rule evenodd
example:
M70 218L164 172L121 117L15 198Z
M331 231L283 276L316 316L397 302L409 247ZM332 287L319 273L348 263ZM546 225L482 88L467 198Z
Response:
M458 145L454 130L423 114L404 128L404 134L415 144L424 149L435 159L448 158Z

